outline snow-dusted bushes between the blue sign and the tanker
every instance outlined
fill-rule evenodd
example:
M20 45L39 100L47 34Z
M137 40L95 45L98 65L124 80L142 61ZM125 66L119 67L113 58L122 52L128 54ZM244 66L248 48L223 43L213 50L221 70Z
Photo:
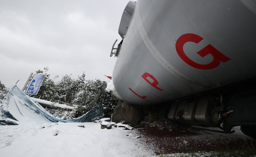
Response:
M77 79L71 78L70 75L64 75L59 82L55 83L49 78L50 75L47 72L47 67L44 68L44 72L42 70L36 72L43 73L44 79L38 94L32 95L32 97L48 101L61 100L72 105L82 106L72 111L70 116L74 118L85 114L100 102L105 113L112 111L117 105L117 100L105 90L107 87L105 81L99 79L85 80L84 72ZM59 117L63 116L61 115L62 112L59 114Z

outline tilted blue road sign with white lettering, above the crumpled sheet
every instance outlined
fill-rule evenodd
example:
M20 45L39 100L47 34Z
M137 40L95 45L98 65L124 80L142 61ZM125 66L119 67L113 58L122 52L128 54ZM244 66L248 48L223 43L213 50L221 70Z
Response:
M44 75L42 73L37 73L34 75L31 83L29 84L26 93L27 94L37 94L42 82Z

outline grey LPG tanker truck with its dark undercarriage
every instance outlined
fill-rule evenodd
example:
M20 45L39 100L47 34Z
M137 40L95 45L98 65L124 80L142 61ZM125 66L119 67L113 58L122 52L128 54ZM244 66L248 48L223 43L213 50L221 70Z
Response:
M256 138L255 1L130 1L118 33L117 98L168 102L170 120Z

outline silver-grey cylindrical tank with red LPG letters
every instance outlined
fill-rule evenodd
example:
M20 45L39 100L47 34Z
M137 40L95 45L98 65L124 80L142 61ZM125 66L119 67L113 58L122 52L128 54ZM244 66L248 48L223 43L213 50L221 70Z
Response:
M113 71L117 93L153 105L256 77L256 11L246 2L138 0Z

